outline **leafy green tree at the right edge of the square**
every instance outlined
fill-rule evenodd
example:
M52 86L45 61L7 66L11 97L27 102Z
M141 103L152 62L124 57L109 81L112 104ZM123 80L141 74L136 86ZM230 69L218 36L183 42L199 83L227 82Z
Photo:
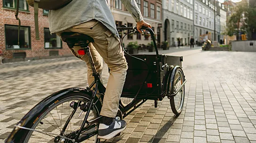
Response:
M251 38L251 31L256 27L256 8L248 7L247 1L242 1L239 5L231 9L233 13L227 21L226 33L229 36L239 33L247 34Z

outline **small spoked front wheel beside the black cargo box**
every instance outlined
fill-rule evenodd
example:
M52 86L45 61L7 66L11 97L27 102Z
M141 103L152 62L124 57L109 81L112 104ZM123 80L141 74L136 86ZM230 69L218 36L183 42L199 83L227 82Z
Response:
M175 70L175 69L174 69ZM182 68L176 68L174 71L173 79L171 79L171 85L170 91L171 94L176 93L180 87L182 86L182 83L184 83L184 75L182 72ZM184 104L184 95L185 95L185 86L183 86L176 96L173 96L170 98L170 104L172 111L175 115L179 115L182 112L183 104Z

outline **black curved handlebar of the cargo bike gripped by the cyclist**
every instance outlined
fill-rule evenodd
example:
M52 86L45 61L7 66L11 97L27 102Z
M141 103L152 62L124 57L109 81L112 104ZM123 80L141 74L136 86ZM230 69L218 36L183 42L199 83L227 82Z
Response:
M137 30L137 27L135 27L135 26L133 26L133 27L116 27L116 29L117 29L117 31L133 30L132 32L130 31L130 33L139 33L139 31ZM151 28L145 27L145 26L142 26L142 28L140 30L147 30L147 31L149 31L149 33L151 35L151 38L153 40L153 44L154 44L155 49L156 49L157 59L159 59L156 39L155 39L155 36L154 36L154 34L155 34L154 31Z

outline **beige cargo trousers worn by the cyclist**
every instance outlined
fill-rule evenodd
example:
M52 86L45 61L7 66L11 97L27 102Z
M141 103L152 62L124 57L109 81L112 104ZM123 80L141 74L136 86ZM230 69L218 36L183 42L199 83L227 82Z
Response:
M89 46L97 72L100 75L102 74L103 60L106 62L108 68L110 68L110 75L100 115L112 118L116 117L118 103L126 77L126 70L128 68L120 39L114 37L114 34L108 30L106 26L96 20L73 26L72 28L60 31L56 34L60 36L62 32L66 31L83 33L94 39L94 43L90 43ZM81 47L76 46L73 49L74 52L77 53ZM78 53L77 55L79 56ZM88 83L90 85L94 81L94 77L92 76L88 56L83 55L79 57L87 64Z

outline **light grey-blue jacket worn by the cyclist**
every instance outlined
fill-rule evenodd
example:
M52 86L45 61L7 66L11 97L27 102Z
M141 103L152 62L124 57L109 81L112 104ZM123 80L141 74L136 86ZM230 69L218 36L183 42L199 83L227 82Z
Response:
M121 0L136 22L143 20L135 0ZM49 12L51 34L96 19L119 37L109 0L72 0L66 7Z

